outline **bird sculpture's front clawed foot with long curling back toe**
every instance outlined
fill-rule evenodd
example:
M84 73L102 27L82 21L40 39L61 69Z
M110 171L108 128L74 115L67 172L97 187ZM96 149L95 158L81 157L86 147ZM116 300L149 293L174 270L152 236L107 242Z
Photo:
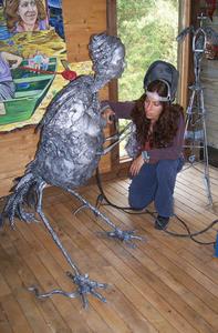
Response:
M81 297L82 299L82 303L83 303L83 307L87 307L89 305L89 301L87 301L87 294L92 294L93 296L95 296L96 299L98 299L102 302L106 302L106 299L103 297L98 292L96 292L95 290L97 287L102 287L102 289L106 289L107 284L105 283L98 283L96 281L90 280L87 274L75 274L73 275L70 272L66 272L66 275L73 281L73 283L76 284L77 290L73 293L70 292L65 292L63 290L52 290L51 292L48 293L40 293L39 289L37 286L30 286L29 291L34 292L35 296L38 299L44 299L44 297L51 297L54 294L60 294L60 295L64 295L66 297L70 299L76 299L76 297Z

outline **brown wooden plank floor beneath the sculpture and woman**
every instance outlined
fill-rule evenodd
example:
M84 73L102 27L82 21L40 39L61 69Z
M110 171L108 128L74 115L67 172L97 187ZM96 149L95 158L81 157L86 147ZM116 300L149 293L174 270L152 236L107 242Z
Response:
M203 174L181 172L175 190L175 212L191 232L206 228L218 216L218 170L210 171L214 209L207 206ZM115 204L127 204L128 180L103 184ZM82 195L95 203L98 190L84 188ZM4 225L0 232L0 332L218 332L218 259L212 245L199 245L190 239L175 238L154 229L149 214L129 215L102 206L101 211L122 229L136 229L146 242L136 249L100 238L108 230L87 209L76 216L79 201L59 189L44 191L44 213L83 273L110 284L101 290L107 303L89 296L84 310L80 299L54 295L38 300L28 286L42 291L74 291L66 276L69 264L43 223L18 221L17 230ZM149 208L152 211L153 206ZM168 230L185 233L172 219ZM214 242L218 224L198 238Z

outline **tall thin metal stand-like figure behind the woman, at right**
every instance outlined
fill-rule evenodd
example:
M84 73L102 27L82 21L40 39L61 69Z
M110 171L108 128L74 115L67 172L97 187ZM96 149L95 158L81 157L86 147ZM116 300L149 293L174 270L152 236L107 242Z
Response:
M208 144L207 144L207 131L206 131L206 109L204 103L204 92L200 82L200 63L206 51L207 33L201 27L203 20L207 19L203 14L198 17L200 27L194 30L193 27L186 28L178 36L177 40L184 38L187 33L193 32L193 52L194 52L194 72L195 83L189 87L191 95L186 113L186 128L185 128L185 149L189 150L188 162L189 165L184 170L193 167L195 170L204 173L204 181L206 186L206 193L209 204L212 204L212 195L210 189L209 179L209 163L208 163ZM196 154L198 158L196 158ZM196 168L199 160L203 160L204 170Z

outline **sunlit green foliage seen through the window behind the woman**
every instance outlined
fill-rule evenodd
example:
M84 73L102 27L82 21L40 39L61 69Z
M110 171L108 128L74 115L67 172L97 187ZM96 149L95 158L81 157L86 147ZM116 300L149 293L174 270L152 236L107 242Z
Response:
M118 99L135 100L153 61L177 64L178 0L117 0L117 30L127 62L118 80Z

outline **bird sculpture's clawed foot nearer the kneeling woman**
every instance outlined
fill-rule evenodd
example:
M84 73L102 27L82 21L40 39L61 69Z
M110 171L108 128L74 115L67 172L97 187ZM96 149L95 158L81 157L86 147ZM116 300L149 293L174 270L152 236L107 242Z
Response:
M145 238L135 235L135 230L121 230L116 228L114 231L100 232L100 234L106 235L107 238L117 239L127 243L131 248L135 248L136 244L132 243L133 240L145 241Z

